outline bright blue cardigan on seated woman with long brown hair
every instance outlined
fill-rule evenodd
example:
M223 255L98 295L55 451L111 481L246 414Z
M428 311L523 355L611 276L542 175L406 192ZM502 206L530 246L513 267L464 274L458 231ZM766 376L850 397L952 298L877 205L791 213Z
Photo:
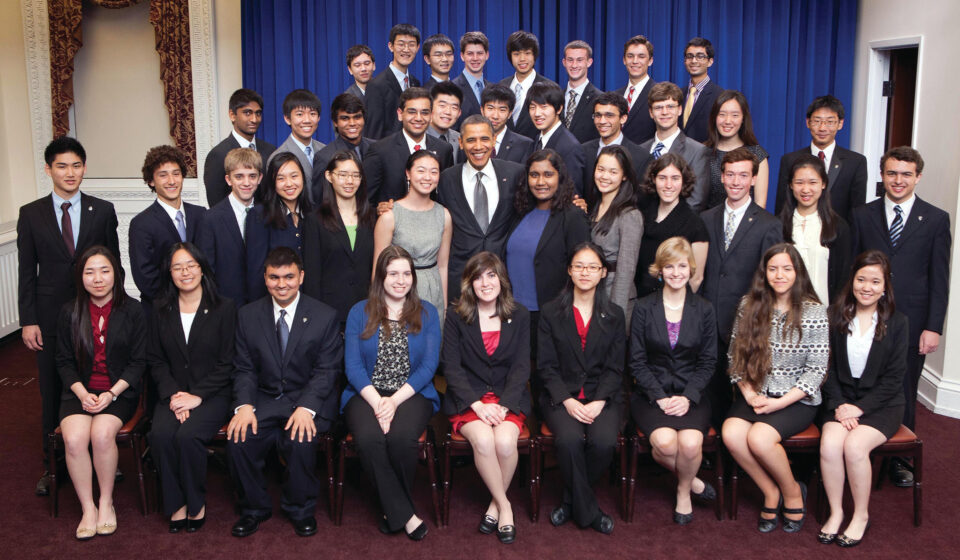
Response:
M421 301L421 303L423 304L423 328L417 334L407 335L410 351L410 377L407 378L407 384L429 400L433 405L433 412L437 412L440 410L440 395L433 387L433 374L440 363L440 316L437 314L437 308L429 302ZM360 394L360 391L370 385L373 366L377 363L380 329L377 329L377 334L370 338L360 338L360 333L367 325L367 313L364 311L366 305L367 300L358 302L350 309L350 315L347 316L347 328L343 335L347 387L340 397L341 413L354 395Z

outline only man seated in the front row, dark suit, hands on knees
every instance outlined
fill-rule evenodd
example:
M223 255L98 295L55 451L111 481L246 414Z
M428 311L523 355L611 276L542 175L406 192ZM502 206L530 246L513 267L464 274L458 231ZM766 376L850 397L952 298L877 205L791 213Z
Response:
M300 293L303 267L293 249L274 249L264 265L269 295L237 317L227 455L240 488L241 517L231 533L249 536L270 518L263 462L276 446L286 464L280 507L296 533L307 537L317 532L317 443L337 416L343 339L336 311Z

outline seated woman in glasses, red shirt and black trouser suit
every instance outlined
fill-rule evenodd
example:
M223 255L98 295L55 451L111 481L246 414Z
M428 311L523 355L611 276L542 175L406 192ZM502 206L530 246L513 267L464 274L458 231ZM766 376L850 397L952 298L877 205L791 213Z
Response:
M540 316L540 413L554 434L564 482L563 501L550 522L572 518L580 527L610 534L613 518L600 510L591 485L606 472L617 446L626 327L623 310L603 289L603 249L589 241L577 245L567 273L566 289Z

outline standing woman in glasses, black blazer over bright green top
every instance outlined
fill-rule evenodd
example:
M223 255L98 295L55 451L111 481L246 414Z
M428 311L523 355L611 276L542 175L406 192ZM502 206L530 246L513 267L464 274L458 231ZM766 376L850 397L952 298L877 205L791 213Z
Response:
M303 293L336 309L343 332L350 308L370 290L377 216L355 153L334 154L324 176L323 201L303 224Z

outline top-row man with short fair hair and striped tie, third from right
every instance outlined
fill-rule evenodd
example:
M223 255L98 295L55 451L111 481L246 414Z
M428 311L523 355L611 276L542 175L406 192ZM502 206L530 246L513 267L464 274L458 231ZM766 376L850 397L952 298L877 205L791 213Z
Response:
M583 144L597 137L591 113L593 100L601 91L587 78L587 70L593 66L593 48L586 41L571 41L563 48L560 63L567 71L563 126Z

